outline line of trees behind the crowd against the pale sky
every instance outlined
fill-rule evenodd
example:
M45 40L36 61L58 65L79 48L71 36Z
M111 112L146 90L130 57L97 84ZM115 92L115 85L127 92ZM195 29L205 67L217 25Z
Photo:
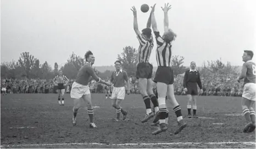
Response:
M123 63L123 69L127 71L127 74L135 75L136 65L137 65L137 50L132 46L125 46L123 51L118 55L118 60ZM186 71L183 56L172 56L171 66L174 70L174 75L182 74ZM85 64L84 56L76 55L76 53L71 53L69 59L67 59L64 65L58 65L57 62L54 63L54 68L44 62L40 64L39 59L31 55L29 52L20 53L18 61L3 62L1 63L1 78L6 79L52 79L58 74L58 70L63 70L63 73L70 79L75 79L77 72ZM208 64L204 63L201 71L219 72L219 73L231 73L235 72L235 69L231 66L230 62L224 64L221 59L216 61L208 61ZM105 70L104 72L99 72L99 76L103 79L108 78L111 75L111 70ZM155 73L155 72L154 72ZM154 75L154 74L153 74Z

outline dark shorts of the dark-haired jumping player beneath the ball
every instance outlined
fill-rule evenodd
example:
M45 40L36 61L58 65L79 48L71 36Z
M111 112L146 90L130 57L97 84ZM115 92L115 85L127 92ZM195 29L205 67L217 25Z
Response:
M153 65L150 63L138 63L136 78L146 78L151 79L153 73Z

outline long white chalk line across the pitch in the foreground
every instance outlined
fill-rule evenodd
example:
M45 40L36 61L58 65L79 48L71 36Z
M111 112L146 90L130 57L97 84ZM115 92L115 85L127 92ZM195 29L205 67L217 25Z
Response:
M246 144L255 145L255 142L172 142L172 143L151 143L151 144L99 144L99 143L71 143L71 144L24 144L24 145L1 145L1 147L18 147L18 146L51 146L51 145L187 145L187 144Z

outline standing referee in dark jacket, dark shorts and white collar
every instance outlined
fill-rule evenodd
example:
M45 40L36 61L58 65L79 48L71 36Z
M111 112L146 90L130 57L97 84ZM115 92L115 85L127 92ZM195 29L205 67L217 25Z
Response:
M197 92L197 85L201 90L201 94L203 93L202 83L200 79L200 74L196 70L196 63L190 63L190 69L185 72L184 79L183 79L183 87L184 91L187 93L188 102L187 102L187 112L188 118L191 118L191 103L193 108L193 117L197 117L197 100L196 96Z

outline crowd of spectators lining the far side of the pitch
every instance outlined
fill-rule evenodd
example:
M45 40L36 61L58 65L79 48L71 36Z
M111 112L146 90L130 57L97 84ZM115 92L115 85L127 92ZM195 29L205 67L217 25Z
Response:
M201 75L203 94L201 96L242 96L242 83L236 81L238 74L204 74ZM136 78L131 80L131 93L140 93L138 81ZM185 95L183 92L183 74L175 76L174 92L176 95ZM57 93L52 79L1 79L7 85L7 93ZM69 93L74 79L70 79L66 86L66 93ZM92 93L104 93L104 86L95 81L89 84ZM155 88L155 86L153 86ZM1 86L2 89L2 86ZM112 88L110 88L110 91ZM199 88L198 88L199 91ZM2 90L1 90L2 92Z

